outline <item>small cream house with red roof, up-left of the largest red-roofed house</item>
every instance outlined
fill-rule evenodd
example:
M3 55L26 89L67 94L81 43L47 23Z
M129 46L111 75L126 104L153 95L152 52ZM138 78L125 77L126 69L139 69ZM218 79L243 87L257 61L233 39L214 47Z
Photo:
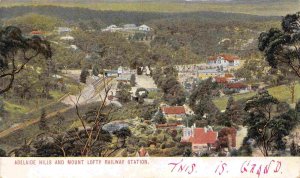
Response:
M186 115L184 106L162 106L161 111L167 120L181 121Z

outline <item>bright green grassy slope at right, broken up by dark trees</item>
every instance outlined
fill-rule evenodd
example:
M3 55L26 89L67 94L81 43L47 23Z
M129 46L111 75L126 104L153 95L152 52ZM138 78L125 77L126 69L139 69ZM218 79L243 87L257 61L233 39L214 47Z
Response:
M290 94L289 88L287 86L281 85L281 86L272 87L272 88L269 88L268 91L271 95L276 97L279 101L287 102L287 103L291 104L291 94ZM256 94L256 92L249 92L249 93L244 93L244 94L235 94L235 95L233 95L233 97L237 101L237 100L241 100L241 99L250 98L250 97L254 96L255 94ZM295 88L295 100L297 101L299 99L300 99L300 84L297 84L296 88ZM228 96L224 96L224 97L214 99L213 102L216 104L216 106L220 110L224 110L227 105L227 100L228 100Z

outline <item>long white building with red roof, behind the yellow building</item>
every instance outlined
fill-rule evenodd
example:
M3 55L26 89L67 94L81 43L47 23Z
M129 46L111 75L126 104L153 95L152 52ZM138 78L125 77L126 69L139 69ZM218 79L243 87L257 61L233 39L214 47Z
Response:
M239 66L240 58L230 54L220 54L208 58L208 65L222 67Z

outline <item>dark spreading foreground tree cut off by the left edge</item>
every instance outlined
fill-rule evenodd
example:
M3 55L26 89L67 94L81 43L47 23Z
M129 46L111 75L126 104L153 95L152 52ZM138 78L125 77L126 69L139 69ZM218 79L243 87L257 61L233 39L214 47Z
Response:
M39 55L47 60L52 57L48 41L38 36L24 37L17 27L0 30L0 95L12 88L16 75Z

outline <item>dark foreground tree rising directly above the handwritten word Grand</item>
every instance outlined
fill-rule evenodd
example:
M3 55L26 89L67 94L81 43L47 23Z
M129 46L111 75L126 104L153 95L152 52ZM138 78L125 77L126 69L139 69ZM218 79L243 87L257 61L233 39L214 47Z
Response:
M296 125L294 111L276 112L279 101L271 96L267 90L246 102L245 111L248 116L244 125L248 126L248 137L256 140L257 146L264 156L269 156L273 149L284 149L283 138Z

